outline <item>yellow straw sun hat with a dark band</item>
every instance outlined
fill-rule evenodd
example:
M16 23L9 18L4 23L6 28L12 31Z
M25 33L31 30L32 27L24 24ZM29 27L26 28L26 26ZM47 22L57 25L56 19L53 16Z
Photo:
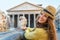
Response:
M56 15L55 7L49 5L45 9L43 9L42 12L44 12L50 18L55 19L55 15Z

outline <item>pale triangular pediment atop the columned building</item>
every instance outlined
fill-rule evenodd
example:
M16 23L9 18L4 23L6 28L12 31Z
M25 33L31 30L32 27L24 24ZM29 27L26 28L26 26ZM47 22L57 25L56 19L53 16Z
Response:
M17 5L7 11L14 11L14 10L39 10L41 7L40 6L37 6L37 5L34 5L34 4L31 4L31 3L28 3L28 2L24 2L20 5Z

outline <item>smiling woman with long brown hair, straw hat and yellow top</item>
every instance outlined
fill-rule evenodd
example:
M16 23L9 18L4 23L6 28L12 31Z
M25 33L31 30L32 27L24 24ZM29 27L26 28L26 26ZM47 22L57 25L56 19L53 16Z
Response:
M56 9L53 6L43 9L41 15L37 17L36 28L27 28L25 38L28 40L56 40L55 14Z

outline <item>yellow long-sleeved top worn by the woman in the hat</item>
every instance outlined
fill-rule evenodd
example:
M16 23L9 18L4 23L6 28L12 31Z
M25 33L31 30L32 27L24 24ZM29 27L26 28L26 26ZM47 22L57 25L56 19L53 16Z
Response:
M27 28L25 38L28 40L48 40L48 33L43 28ZM32 31L33 30L33 31Z

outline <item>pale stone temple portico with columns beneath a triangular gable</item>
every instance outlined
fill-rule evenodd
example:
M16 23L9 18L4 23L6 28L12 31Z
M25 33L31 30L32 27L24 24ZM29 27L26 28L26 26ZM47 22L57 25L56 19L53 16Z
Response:
M36 17L41 12L41 7L25 2L16 7L7 10L8 15L13 20L13 26L18 27L19 17L25 16L27 18L27 27L36 27Z

